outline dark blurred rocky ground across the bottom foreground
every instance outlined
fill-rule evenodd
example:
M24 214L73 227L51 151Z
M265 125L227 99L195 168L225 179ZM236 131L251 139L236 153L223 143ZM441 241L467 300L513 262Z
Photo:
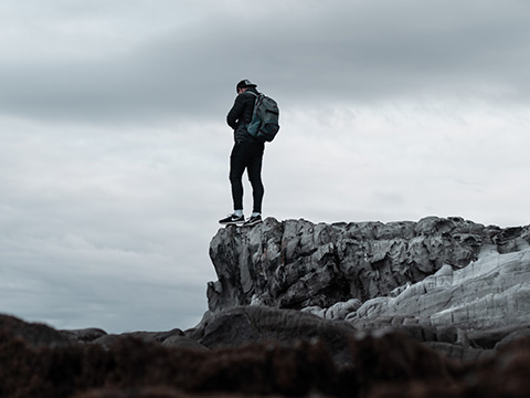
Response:
M267 310L268 311L268 310ZM279 312L282 310L271 310ZM1 316L1 397L528 397L530 338L513 341L492 358L463 364L447 359L395 333L359 333L346 323L301 315L300 329L267 332L250 314L241 342L221 344L230 328L213 318L189 338L197 347L166 346L156 339L118 336L105 345L70 341L56 332L35 345L17 332L22 324L35 336L52 332ZM277 317L292 316L276 314ZM293 315L294 316L294 315ZM226 314L226 318L233 318ZM312 320L315 322L312 322ZM17 325L18 324L18 325ZM13 328L13 325L15 327ZM307 329L304 333L303 329ZM312 332L311 332L312 331ZM314 332L322 331L322 337ZM261 336L261 337L257 337ZM279 336L279 337L278 337ZM278 337L278 338L276 338ZM254 341L254 343L250 343ZM335 343L333 343L335 342ZM337 353L341 353L337 356Z

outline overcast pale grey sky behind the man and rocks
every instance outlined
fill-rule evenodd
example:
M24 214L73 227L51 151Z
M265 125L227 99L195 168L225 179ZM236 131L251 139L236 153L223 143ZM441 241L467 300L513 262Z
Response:
M280 107L265 217L530 223L527 0L6 0L0 313L194 326L242 78Z

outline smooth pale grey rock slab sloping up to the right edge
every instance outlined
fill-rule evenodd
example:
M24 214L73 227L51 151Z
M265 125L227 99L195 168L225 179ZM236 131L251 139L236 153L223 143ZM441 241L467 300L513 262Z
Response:
M483 252L469 265L444 265L395 297L369 300L349 316L359 327L380 317L407 316L432 326L492 329L530 324L530 248Z

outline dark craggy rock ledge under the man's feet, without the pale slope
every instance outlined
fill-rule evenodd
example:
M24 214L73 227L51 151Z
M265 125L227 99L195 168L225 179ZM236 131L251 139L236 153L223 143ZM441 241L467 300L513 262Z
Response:
M365 302L423 281L446 264L464 268L481 251L515 252L529 242L528 227L502 230L462 218L336 224L268 218L252 229L221 229L212 239L219 280L209 283L209 307L301 310Z

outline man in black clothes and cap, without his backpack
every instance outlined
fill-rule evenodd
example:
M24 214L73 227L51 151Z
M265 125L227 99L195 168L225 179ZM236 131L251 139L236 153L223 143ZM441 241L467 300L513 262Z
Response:
M256 84L243 80L236 85L237 96L226 116L226 123L234 129L234 147L230 155L230 184L234 212L219 220L221 224L254 226L262 222L262 201L264 188L262 182L262 159L265 144L251 136L246 129L252 119L254 104L258 92ZM252 185L253 213L245 221L243 214L243 172L247 171Z

